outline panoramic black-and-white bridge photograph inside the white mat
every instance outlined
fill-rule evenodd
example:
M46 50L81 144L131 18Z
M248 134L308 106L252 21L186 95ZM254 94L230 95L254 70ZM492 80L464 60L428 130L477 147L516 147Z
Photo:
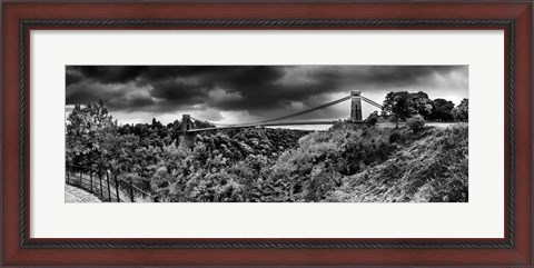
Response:
M468 202L468 66L66 66L66 202Z

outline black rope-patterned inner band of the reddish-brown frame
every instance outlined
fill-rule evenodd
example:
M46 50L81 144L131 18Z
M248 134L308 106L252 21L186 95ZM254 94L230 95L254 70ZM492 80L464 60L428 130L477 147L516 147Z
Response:
M28 81L29 32L32 28L497 28L505 29L507 91L507 234L502 241L416 241L415 239L372 241L370 239L169 239L131 241L40 241L29 239L28 200ZM21 249L512 249L515 247L515 20L513 19L22 19L19 20L19 247ZM105 240L105 239L98 239ZM306 241L303 241L306 240ZM379 240L379 239L377 239ZM476 240L476 239L473 239Z

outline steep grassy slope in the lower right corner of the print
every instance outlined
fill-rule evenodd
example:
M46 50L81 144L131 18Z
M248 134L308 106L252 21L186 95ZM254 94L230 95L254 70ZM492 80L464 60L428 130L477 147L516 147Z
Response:
M468 200L467 127L398 131L397 149L383 162L343 178L328 201ZM397 135L392 135L397 136Z

